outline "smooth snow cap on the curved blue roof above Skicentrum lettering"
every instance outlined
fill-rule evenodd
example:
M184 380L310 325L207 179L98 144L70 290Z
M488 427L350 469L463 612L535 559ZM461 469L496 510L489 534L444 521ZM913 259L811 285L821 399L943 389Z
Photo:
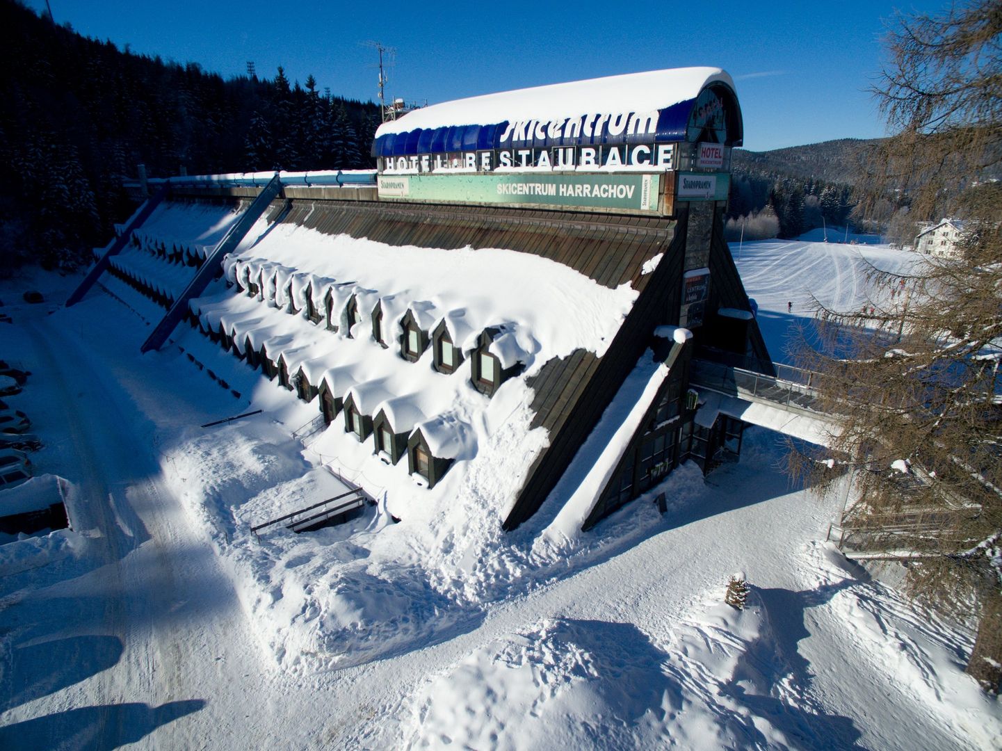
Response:
M584 81L502 91L414 109L379 126L376 137L415 128L475 125L505 120L559 120L595 111L646 112L694 99L703 86L722 81L734 87L719 68L691 67L649 70Z

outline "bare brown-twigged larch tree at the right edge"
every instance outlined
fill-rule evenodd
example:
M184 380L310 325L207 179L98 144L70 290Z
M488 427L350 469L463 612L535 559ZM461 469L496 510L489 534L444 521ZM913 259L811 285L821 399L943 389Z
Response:
M917 599L977 624L967 672L998 693L1002 2L899 15L886 43L874 93L893 135L870 154L862 199L901 200L912 222L955 217L964 233L954 257L917 257L905 275L873 269L861 309L816 302L798 354L822 373L837 427L827 455L795 468L822 485L833 465L853 473L857 551L901 560Z

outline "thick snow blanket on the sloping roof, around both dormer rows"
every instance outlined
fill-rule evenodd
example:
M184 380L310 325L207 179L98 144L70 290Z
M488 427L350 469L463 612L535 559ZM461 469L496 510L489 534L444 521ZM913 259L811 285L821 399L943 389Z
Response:
M531 428L527 379L576 350L602 356L638 294L506 249L395 247L297 225L256 226L248 238L225 259L223 279L191 301L202 327L221 328L240 352L264 347L273 361L282 358L290 379L302 371L314 389L326 383L335 399L351 396L362 414L384 411L397 434L419 430L435 457L450 460L433 488L413 481L406 457L396 465L381 460L375 439L360 441L340 416L311 445L374 496L388 492L395 515L441 513L447 524L454 513L439 504L456 497L469 506L464 513L500 524L548 443L545 430ZM348 327L353 298L357 323ZM377 306L382 331L374 337ZM489 332L502 366L524 367L488 397L473 387L469 357L452 373L435 369L434 347L409 362L400 344L408 311L429 335L445 328L466 353Z

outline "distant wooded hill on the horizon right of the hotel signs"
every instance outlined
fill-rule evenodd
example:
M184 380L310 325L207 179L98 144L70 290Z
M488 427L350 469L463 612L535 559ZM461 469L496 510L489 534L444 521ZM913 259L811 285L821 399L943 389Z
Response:
M879 138L840 138L805 146L747 151L735 148L731 168L735 174L794 177L801 180L855 185L864 152Z

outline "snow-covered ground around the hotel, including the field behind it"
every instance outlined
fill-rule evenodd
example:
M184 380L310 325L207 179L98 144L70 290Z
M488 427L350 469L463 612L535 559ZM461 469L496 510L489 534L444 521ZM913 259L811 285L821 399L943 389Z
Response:
M864 303L861 252L913 258L743 244L774 357L811 294ZM115 298L51 315L15 292L58 301L76 280L0 287L14 319L0 358L32 371L7 401L46 441L36 472L75 499L75 531L0 546L0 745L1002 744L998 701L962 673L971 635L822 541L842 498L791 487L774 434L749 431L741 461L705 480L679 468L654 491L664 516L641 498L560 547L540 531L562 486L510 534L457 498L259 540L249 525L319 492L321 458L291 437L316 407L193 332L177 344L202 369L175 347L139 356L160 311L104 281ZM753 588L742 613L721 604L735 571Z

